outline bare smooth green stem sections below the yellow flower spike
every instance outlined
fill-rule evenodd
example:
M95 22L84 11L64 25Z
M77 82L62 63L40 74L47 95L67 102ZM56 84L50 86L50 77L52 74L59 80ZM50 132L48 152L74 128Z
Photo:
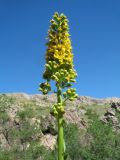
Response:
M62 104L61 88L57 85L57 102ZM58 160L64 160L63 115L58 115Z

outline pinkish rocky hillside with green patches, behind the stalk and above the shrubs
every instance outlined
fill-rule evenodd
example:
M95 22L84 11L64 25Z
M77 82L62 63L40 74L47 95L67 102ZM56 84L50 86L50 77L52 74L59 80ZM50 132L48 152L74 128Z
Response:
M57 140L57 127L55 119L50 115L50 109L56 102L56 95L27 95L27 94L1 94L0 95L0 148L10 150L19 148L26 150L33 142L54 149ZM78 97L74 102L66 102L66 123L75 123L82 130L88 127L87 110L91 109L100 119L107 123L109 119L113 124L120 125L116 118L115 107L119 98L95 99L91 97Z

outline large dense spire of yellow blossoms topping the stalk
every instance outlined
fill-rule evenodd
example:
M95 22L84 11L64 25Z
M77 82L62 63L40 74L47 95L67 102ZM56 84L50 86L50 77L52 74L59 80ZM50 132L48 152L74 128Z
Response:
M46 69L44 79L53 79L56 72L65 70L66 79L74 79L76 71L73 69L73 54L69 35L68 20L64 14L55 13L50 21L46 51ZM52 63L52 64L51 64Z

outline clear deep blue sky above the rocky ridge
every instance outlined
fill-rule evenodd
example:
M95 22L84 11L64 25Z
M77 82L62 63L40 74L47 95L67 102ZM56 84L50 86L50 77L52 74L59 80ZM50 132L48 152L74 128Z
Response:
M0 0L0 92L39 93L55 11L70 21L78 94L120 97L119 0Z

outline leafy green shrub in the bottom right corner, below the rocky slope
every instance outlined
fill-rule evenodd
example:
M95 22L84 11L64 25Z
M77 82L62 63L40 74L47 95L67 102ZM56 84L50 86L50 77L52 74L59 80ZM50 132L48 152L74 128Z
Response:
M89 113L92 123L87 133L92 136L89 145L82 147L82 160L119 160L120 134L114 132L111 124L104 124L97 115Z

